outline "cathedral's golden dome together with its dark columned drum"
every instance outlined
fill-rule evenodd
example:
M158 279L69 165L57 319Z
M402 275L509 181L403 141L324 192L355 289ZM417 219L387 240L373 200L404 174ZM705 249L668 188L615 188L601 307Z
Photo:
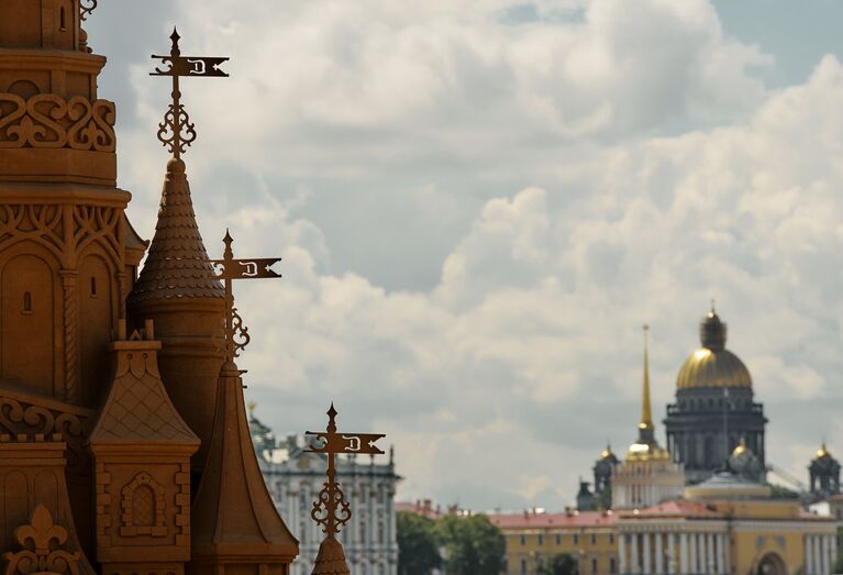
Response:
M725 349L726 324L713 307L700 324L700 341L679 369L676 403L667 406L667 447L688 482L699 483L721 471L743 439L761 463L756 479L763 480L764 407L754 401L748 369Z

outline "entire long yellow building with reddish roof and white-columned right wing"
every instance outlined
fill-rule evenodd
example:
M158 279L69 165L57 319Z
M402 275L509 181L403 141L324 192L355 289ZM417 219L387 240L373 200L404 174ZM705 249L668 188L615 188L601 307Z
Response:
M506 538L506 575L541 573L563 553L580 575L823 575L838 553L835 520L729 474L642 509L490 519Z

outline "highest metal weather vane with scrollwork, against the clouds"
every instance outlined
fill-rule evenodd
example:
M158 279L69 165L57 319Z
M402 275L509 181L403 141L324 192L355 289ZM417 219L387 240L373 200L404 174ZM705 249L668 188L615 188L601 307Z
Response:
M96 0L88 0L93 2ZM196 125L190 122L185 107L181 104L181 90L179 88L179 78L228 78L229 75L220 69L220 65L228 62L229 58L210 58L206 56L182 56L178 46L181 36L178 31L173 29L173 47L169 56L156 56L154 59L160 59L166 66L164 69L155 68L149 76L169 76L173 78L173 103L167 113L164 114L164 122L158 124L158 140L165 147L169 147L173 157L181 157L187 147L196 141Z

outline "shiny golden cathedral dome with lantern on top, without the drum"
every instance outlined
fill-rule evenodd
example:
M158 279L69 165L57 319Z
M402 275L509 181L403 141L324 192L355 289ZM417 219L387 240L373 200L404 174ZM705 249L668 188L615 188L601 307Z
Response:
M700 323L702 347L694 352L679 369L676 387L752 387L750 371L725 349L726 325L712 309Z

